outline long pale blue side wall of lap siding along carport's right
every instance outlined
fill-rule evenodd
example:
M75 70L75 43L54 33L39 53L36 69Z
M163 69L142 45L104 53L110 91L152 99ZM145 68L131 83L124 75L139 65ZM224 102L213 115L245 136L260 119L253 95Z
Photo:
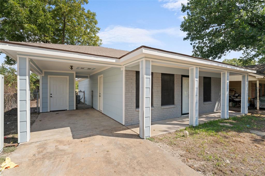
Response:
M91 90L93 90L93 108L98 110L98 76L103 75L103 113L122 123L122 81L123 71L120 68L109 68L89 79L79 82L78 89L85 91L86 104L91 105Z

